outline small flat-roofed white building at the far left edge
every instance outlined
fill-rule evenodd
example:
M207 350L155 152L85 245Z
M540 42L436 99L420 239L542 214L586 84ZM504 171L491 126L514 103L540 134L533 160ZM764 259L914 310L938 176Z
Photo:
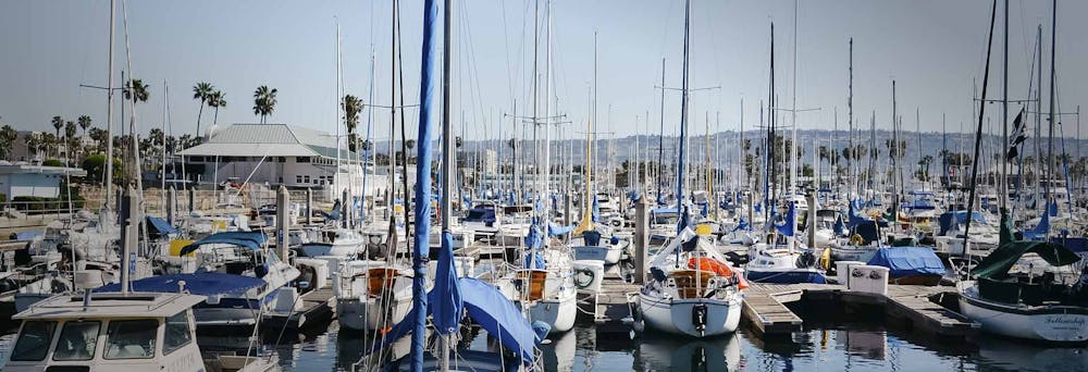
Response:
M77 168L0 163L0 195L7 200L17 197L58 198L61 182L66 176L83 177L87 171Z

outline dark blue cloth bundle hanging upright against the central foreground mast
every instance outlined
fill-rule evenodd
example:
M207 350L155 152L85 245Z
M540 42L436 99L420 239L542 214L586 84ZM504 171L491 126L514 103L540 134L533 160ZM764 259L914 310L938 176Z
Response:
M434 288L428 299L434 328L440 334L457 332L465 305L457 285L457 265L454 264L454 236L442 232L442 251L435 270Z

